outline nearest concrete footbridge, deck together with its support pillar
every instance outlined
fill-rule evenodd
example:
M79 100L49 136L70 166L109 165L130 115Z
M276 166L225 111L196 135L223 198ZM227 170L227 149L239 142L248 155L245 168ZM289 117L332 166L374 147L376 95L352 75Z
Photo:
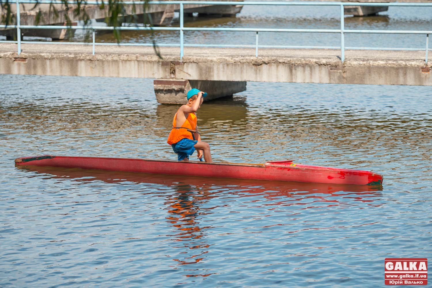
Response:
M155 78L160 103L184 103L190 87L209 91L207 99L246 89L247 81L376 85L432 85L432 53L424 51L357 51L0 43L0 74Z

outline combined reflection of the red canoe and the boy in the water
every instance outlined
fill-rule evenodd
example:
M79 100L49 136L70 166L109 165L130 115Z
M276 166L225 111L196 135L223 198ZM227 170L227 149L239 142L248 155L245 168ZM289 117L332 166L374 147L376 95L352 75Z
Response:
M213 245L207 236L210 229L214 228L205 225L207 223L205 218L208 221L214 209L226 206L227 201L241 201L258 209L261 207L263 210L287 208L292 211L318 207L332 209L333 206L353 205L353 201L372 203L381 198L382 190L381 186L188 177L79 168L16 166L16 169L29 172L28 177L42 176L45 179L50 177L89 183L103 181L107 184L129 186L148 183L168 188L168 190L155 189L152 193L158 193L158 196L165 198L163 202L167 212L165 218L168 225L172 227L171 232L165 236L172 241L172 244L168 245L179 251L172 255L172 260L176 262L172 267L183 269L186 277L206 277L212 274L206 266L183 267L183 265L205 263L206 253L210 252L210 247ZM212 201L213 198L219 199ZM295 212L295 214L299 213Z

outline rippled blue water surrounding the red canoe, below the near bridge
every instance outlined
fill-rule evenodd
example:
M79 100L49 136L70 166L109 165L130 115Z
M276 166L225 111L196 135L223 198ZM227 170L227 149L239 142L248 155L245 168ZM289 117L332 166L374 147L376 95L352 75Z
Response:
M175 159L151 79L0 76L1 287L378 287L432 257L430 87L248 82L198 111L214 161L361 168L383 187L15 167Z

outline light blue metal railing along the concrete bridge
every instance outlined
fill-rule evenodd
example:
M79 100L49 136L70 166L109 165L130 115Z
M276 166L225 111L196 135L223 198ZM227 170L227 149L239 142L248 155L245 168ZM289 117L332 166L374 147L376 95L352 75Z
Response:
M95 42L96 30L165 30L165 31L180 31L179 44L158 44L158 46L180 46L180 60L184 55L184 47L255 47L255 57L258 57L258 48L308 48L308 49L340 49L340 59L345 61L345 50L408 50L408 51L426 51L426 65L428 63L429 51L429 34L432 30L427 31L410 31L410 30L350 30L345 29L344 25L344 6L432 6L432 3L356 3L356 2L228 2L228 1L150 1L149 4L169 4L180 5L180 26L179 27L145 27L145 26L56 26L56 25L21 25L19 4L21 3L40 3L40 4L62 4L58 0L16 0L16 25L0 25L0 28L16 28L17 40L16 41L0 41L0 43L16 43L18 44L18 54L21 54L22 43L32 44L91 44L92 54L95 54L96 45L120 45L120 46L152 46L148 43L97 43ZM76 4L76 1L67 1L68 4ZM88 1L88 5L100 5L102 2ZM124 1L128 5L142 5L144 1ZM206 28L206 27L184 27L184 9L183 6L187 4L206 4L206 5L280 5L280 6L339 6L340 8L340 29L271 29L271 28ZM47 42L47 41L22 41L21 29L87 29L92 30L92 42ZM235 31L235 32L256 32L255 45L235 45L235 44L185 44L183 34L184 31ZM284 46L284 45L258 45L259 32L297 32L297 33L340 33L340 46ZM345 34L346 33L364 33L364 34L422 34L426 35L426 49L422 48L389 48L389 47L346 47Z

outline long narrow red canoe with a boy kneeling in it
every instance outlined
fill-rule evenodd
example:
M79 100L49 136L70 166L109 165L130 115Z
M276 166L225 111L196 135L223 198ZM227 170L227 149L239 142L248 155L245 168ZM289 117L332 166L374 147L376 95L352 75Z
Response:
M265 164L206 163L198 161L34 156L15 159L16 165L52 166L142 172L152 174L229 177L240 179L282 180L328 184L382 184L382 175L362 170L296 164L292 161L270 161Z

